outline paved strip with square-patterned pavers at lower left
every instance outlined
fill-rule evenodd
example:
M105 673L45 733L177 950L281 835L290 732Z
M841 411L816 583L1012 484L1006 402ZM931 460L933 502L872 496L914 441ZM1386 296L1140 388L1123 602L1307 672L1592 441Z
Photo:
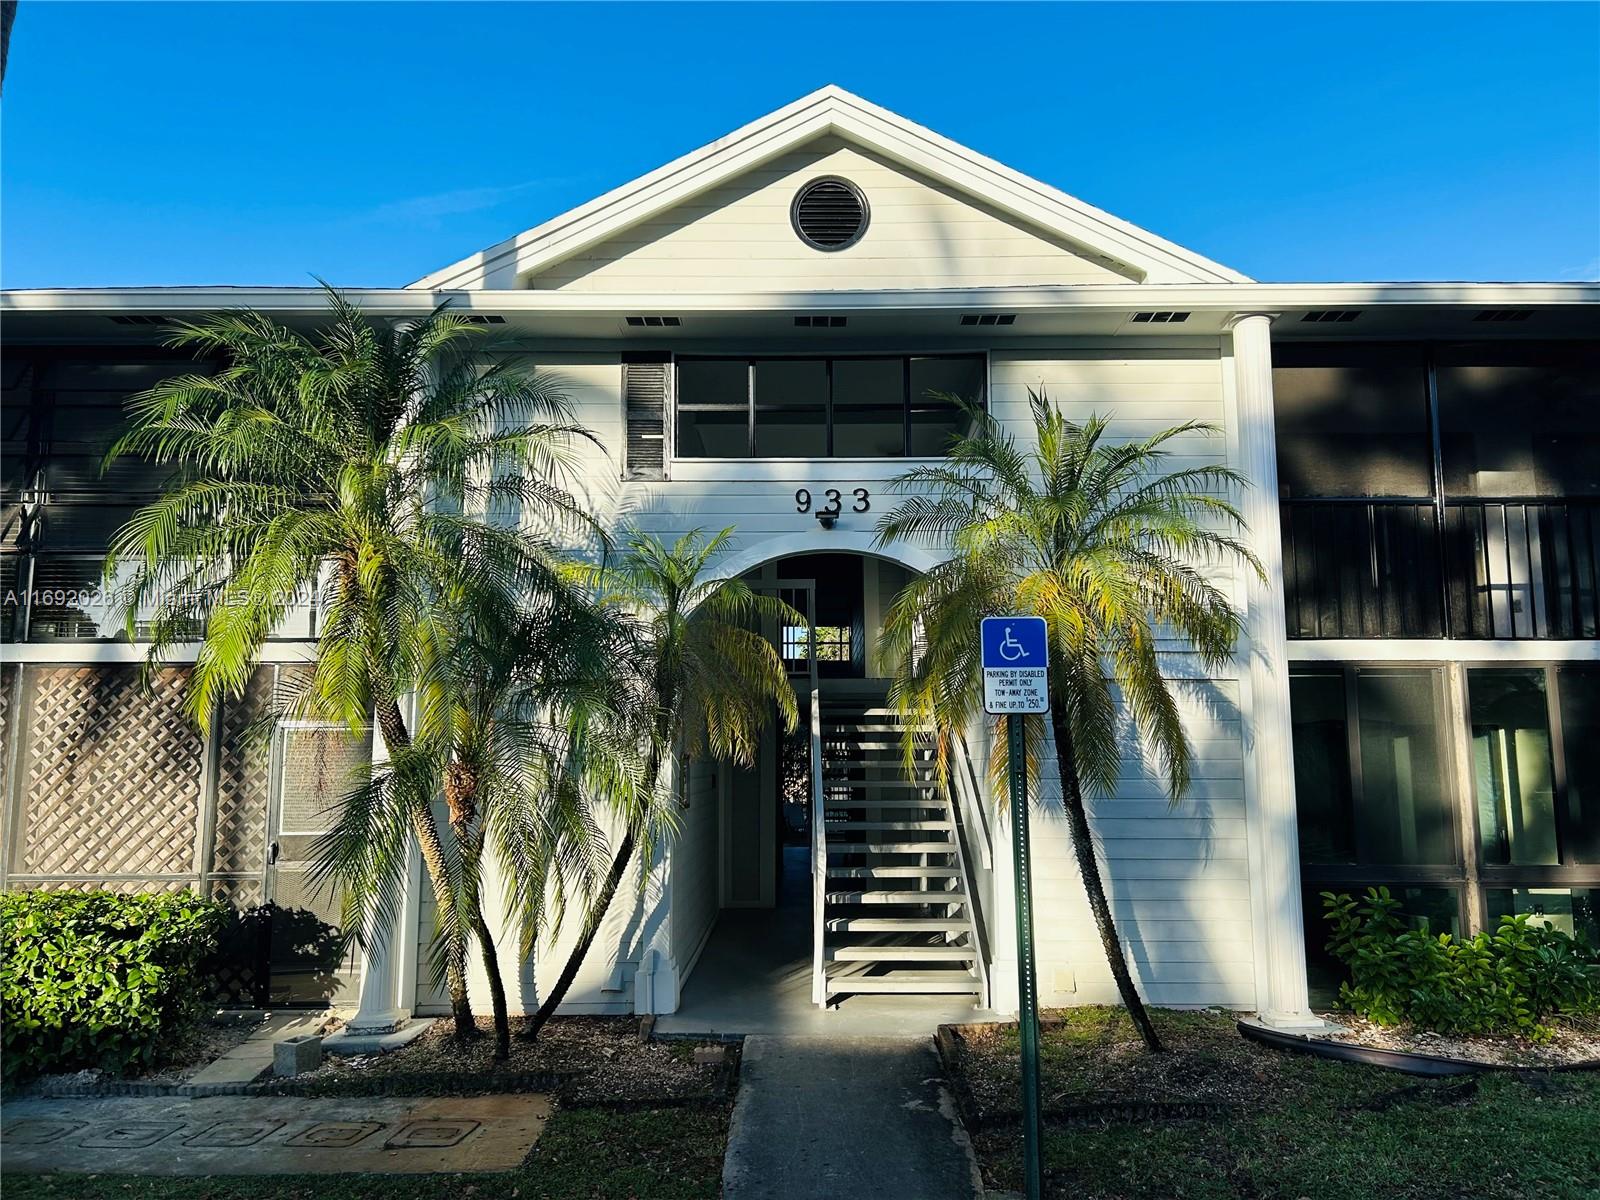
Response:
M534 1094L19 1099L5 1106L0 1163L117 1174L507 1171L549 1115L549 1099Z

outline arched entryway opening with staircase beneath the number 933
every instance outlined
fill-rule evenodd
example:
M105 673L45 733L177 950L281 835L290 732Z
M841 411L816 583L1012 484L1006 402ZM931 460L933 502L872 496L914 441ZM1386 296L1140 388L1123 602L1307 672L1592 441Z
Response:
M976 930L962 930L976 918L958 830L942 794L912 782L926 774L906 773L885 706L890 666L878 653L890 603L925 565L920 554L907 562L829 546L738 571L814 624L814 638L802 624L768 630L789 666L802 725L786 734L774 722L754 766L701 762L685 773L670 851L682 994L678 1011L659 1018L662 1030L899 1032L971 1014L982 965ZM826 746L827 850L819 859L813 696ZM827 880L822 952L830 965L821 973L814 861ZM936 930L941 922L946 933ZM907 965L915 971L894 970ZM914 974L930 979L931 995L906 994ZM818 1005L819 978L827 1008Z

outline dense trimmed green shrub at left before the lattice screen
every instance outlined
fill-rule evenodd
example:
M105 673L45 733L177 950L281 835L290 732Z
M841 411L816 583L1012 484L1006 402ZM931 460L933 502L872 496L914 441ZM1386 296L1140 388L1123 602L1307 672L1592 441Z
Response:
M6 1074L155 1062L205 1008L222 912L194 893L0 894Z

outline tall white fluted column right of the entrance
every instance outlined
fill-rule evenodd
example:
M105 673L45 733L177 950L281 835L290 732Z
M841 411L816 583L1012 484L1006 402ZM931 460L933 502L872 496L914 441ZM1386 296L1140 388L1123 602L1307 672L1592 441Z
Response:
M1283 541L1278 528L1278 456L1272 419L1272 314L1235 317L1238 470L1250 546L1266 581L1245 573L1250 707L1245 714L1248 827L1256 843L1254 904L1264 962L1258 962L1261 1021L1277 1029L1317 1029L1306 990L1299 832L1294 824L1294 750L1290 723L1288 619L1283 610Z

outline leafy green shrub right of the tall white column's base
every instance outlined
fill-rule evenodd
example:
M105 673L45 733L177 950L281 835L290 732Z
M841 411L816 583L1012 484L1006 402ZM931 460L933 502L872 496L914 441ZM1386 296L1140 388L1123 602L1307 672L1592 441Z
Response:
M1600 1013L1600 952L1526 915L1462 939L1408 928L1389 888L1322 901L1350 973L1339 1002L1381 1026L1544 1038L1547 1016Z

